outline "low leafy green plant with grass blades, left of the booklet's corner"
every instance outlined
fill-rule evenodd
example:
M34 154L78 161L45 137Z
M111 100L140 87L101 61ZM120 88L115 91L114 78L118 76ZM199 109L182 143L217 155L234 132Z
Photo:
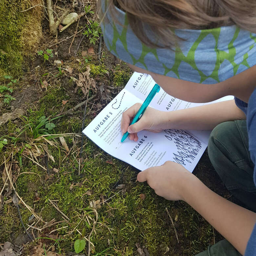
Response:
M30 131L32 137L36 139L41 135L49 134L50 131L52 131L55 127L55 124L52 121L60 117L62 116L54 117L50 121L49 118L45 116L40 117L38 120L33 120L31 118L21 116L21 120L25 123L25 125L20 135L25 131Z

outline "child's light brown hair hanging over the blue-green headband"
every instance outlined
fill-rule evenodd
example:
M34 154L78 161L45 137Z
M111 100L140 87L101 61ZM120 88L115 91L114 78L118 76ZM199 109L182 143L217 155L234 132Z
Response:
M150 47L172 47L177 42L173 29L212 29L236 24L256 32L255 0L100 0L107 1L115 15L115 6L127 13L137 37ZM99 1L99 2L100 2ZM152 42L145 26L161 38Z

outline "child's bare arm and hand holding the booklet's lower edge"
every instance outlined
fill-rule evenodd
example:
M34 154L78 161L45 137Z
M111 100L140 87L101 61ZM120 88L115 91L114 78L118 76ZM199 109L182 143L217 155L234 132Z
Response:
M172 161L140 172L137 179L147 181L159 196L191 205L244 255L256 213L217 195L182 165Z

